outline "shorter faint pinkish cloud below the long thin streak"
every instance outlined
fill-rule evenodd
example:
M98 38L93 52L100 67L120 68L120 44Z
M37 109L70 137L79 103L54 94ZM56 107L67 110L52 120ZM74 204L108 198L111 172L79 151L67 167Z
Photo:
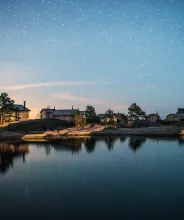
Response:
M76 102L82 102L82 103L96 103L96 104L101 104L104 105L101 100L98 99L93 99L93 98L86 98L86 97L79 97L79 96L74 96L71 93L65 92L65 93L60 93L60 94L53 94L53 98L55 99L62 99L62 100L67 100L67 101L76 101Z

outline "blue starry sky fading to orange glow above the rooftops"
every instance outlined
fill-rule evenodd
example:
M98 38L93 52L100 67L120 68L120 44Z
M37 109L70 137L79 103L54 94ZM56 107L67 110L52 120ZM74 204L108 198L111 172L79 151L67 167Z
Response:
M183 0L0 0L0 92L41 108L184 107Z

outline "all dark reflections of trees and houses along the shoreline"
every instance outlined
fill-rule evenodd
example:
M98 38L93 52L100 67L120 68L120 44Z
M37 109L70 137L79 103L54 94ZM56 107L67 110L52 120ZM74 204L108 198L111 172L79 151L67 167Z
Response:
M148 139L144 137L86 137L86 138L70 138L51 142L34 143L33 145L45 150L47 156L51 154L51 150L60 152L70 152L72 154L80 153L84 148L87 153L94 153L97 143L105 143L109 151L112 151L118 145L126 145L133 152L137 152L144 146ZM152 141L159 143L160 141L178 141L178 146L184 146L184 137L176 138L152 138ZM14 161L22 157L25 162L25 155L29 153L29 143L20 142L0 142L0 173L5 174L10 167L13 167Z

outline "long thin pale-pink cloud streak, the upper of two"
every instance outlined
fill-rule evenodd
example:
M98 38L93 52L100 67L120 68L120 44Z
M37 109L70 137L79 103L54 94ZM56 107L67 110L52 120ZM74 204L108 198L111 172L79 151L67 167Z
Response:
M109 84L108 82L97 81L62 81L62 82L46 82L46 83L34 83L34 84L21 84L21 85L7 85L3 86L4 89L9 90L22 90L29 88L40 87L57 87L57 86L86 86L86 85L102 85Z

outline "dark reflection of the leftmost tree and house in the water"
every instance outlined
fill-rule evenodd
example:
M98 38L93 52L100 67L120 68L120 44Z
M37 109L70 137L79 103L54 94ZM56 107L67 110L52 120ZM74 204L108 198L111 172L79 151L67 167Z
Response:
M13 161L22 157L25 162L25 154L29 152L26 143L4 143L0 142L0 172L6 173L9 167L13 167Z

